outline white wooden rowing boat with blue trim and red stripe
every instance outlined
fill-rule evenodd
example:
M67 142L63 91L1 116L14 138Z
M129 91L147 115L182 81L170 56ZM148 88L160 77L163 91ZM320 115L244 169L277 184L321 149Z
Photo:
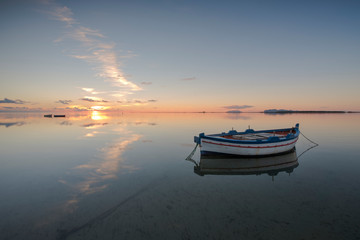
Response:
M277 155L292 151L299 138L299 124L295 127L244 132L230 130L219 134L194 137L201 154L230 154L249 157Z

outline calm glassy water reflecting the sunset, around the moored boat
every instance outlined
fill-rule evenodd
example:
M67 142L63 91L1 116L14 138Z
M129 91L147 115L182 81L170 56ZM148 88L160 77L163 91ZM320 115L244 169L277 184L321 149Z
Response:
M286 168L200 176L184 160L200 132L297 122L319 146L302 154L312 143L300 137L295 158L284 158L301 156ZM360 239L359 122L360 114L2 113L0 236Z

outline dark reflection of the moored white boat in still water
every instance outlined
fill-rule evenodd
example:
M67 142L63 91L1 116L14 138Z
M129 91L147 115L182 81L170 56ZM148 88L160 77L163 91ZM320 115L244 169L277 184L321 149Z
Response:
M262 158L235 158L219 155L201 156L194 172L200 176L215 175L260 175L275 176L279 172L291 173L299 165L296 150L287 154Z

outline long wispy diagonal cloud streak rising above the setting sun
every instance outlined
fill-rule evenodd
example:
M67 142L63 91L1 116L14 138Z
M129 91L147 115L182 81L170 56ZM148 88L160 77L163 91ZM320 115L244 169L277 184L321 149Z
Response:
M121 62L118 60L122 57L129 58L135 56L132 52L128 51L126 56L117 56L115 44L106 42L106 36L100 31L82 26L74 18L70 8L59 6L52 1L45 1L45 3L50 9L47 11L49 16L57 21L64 22L67 27L67 33L64 37L58 39L57 42L70 39L81 44L81 47L77 48L76 53L75 48L70 49L72 57L86 61L94 66L97 75L110 82L113 86L119 87L119 92L124 96L129 92L141 90L141 87L127 78L127 75L120 68ZM93 89L91 92L93 92Z

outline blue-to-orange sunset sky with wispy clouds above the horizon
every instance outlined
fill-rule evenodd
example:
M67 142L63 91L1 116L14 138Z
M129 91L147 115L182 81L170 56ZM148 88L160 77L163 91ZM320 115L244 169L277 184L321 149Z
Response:
M0 1L0 111L360 111L360 1Z

